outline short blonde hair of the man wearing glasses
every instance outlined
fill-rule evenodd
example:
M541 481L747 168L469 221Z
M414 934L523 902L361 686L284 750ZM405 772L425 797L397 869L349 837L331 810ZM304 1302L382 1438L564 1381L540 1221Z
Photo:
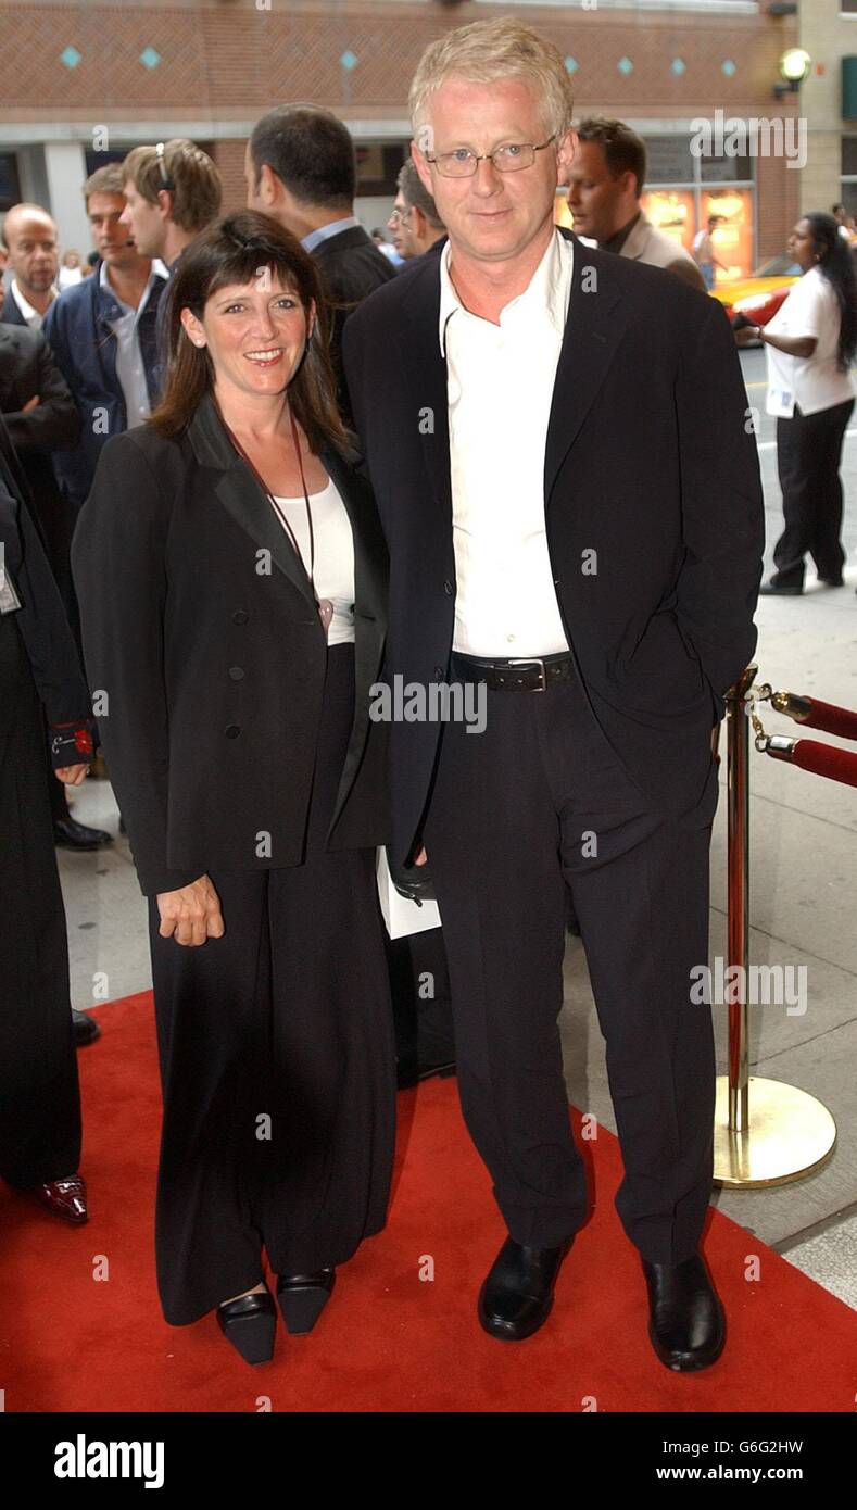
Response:
M533 88L548 133L563 136L572 124L572 86L554 44L522 21L472 21L430 42L416 65L407 104L418 145L430 98L450 74L478 85L521 79Z

